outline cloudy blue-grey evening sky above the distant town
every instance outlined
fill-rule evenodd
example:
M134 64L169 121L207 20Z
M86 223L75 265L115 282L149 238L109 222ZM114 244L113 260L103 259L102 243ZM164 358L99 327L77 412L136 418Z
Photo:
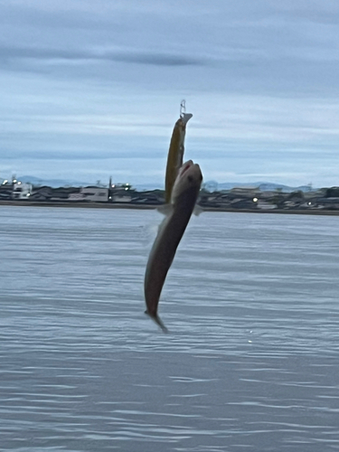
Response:
M0 179L339 185L337 0L0 0Z

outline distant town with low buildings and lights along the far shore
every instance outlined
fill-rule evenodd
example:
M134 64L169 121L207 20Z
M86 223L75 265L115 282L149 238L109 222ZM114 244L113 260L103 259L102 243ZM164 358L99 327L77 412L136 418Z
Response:
M1 204L55 205L78 207L155 208L164 204L164 190L137 191L130 184L96 184L52 187L30 184L15 176L0 184ZM339 214L339 187L312 189L311 186L284 190L268 184L218 189L204 184L198 204L202 209L226 212L290 212Z

